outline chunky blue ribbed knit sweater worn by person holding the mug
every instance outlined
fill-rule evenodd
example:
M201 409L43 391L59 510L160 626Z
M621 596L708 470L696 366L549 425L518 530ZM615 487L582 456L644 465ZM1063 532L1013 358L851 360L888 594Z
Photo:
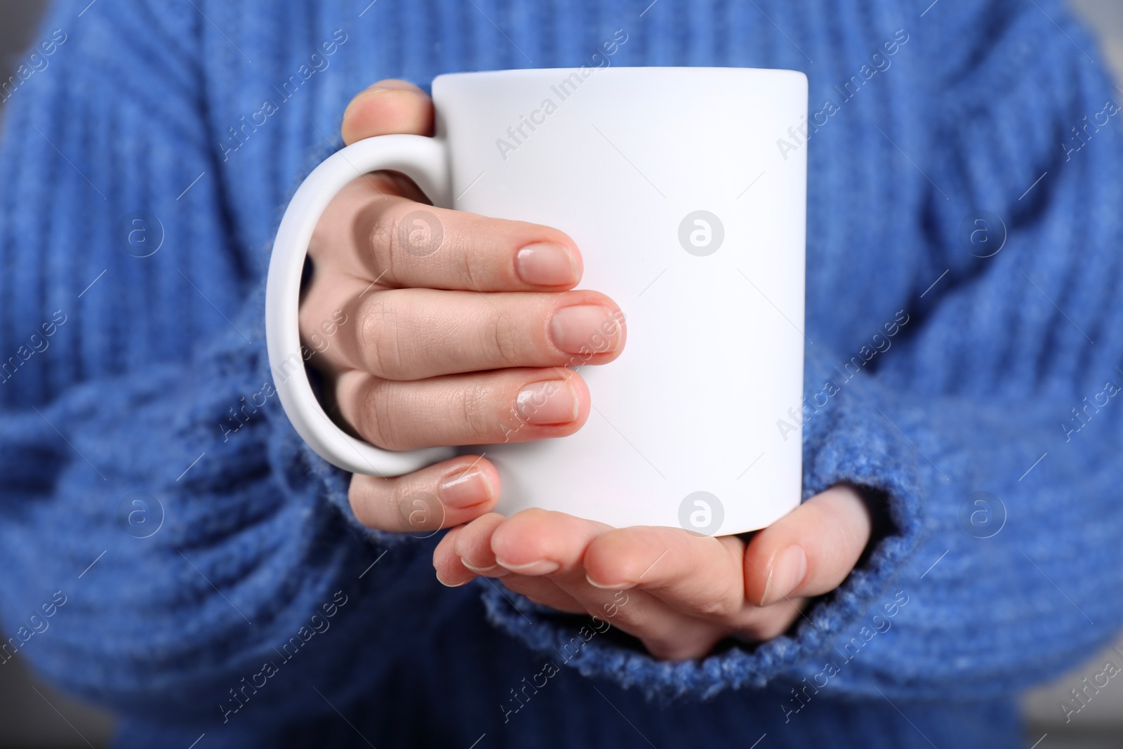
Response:
M2 86L0 664L122 747L1017 746L1013 695L1123 621L1099 54L1058 0L648 3L57 2ZM787 633L681 663L442 588L436 539L362 528L266 386L271 238L349 98L599 64L618 29L613 65L807 73L777 144L810 156L807 387L777 428L805 496L885 506Z

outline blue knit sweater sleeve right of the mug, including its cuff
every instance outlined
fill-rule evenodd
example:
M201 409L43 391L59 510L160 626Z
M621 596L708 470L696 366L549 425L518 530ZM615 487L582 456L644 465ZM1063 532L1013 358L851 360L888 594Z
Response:
M937 6L914 34L934 116L892 130L904 153L929 154L905 165L923 256L905 323L870 320L901 329L855 351L809 331L804 497L853 482L884 497L888 532L756 647L660 663L487 590L501 627L648 695L775 681L877 700L1010 694L1119 630L1117 99L1059 3L979 7Z

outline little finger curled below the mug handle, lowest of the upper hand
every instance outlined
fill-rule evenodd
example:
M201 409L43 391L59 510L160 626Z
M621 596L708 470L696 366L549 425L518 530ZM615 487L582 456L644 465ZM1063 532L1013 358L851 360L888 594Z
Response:
M404 476L355 474L347 499L368 528L426 535L486 513L499 490L499 472L490 460L462 455Z

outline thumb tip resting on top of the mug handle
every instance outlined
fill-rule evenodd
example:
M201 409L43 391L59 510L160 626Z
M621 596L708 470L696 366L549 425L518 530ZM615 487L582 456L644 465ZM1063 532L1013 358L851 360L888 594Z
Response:
M432 100L408 81L386 79L360 91L344 110L344 143L376 135L432 133Z

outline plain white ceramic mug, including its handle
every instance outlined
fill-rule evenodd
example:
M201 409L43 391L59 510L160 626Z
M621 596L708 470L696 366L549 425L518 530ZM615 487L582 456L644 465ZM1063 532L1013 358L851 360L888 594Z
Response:
M436 205L566 231L584 259L581 286L610 295L626 316L617 360L574 362L593 402L581 430L462 450L497 466L496 511L537 506L615 527L727 535L795 508L800 433L785 439L777 421L803 395L806 145L792 134L805 127L806 76L511 70L440 75L432 98L436 137L381 136L339 150L281 222L266 337L277 394L301 437L340 468L372 475L457 451L389 451L349 436L317 402L300 356L312 229L345 184L396 170ZM426 216L417 229L439 252L440 227Z

